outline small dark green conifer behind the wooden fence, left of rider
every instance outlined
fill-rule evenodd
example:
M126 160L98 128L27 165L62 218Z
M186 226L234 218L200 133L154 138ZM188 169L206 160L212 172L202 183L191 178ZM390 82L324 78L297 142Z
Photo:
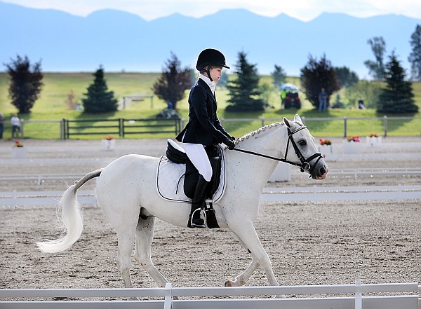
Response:
M89 85L88 92L83 93L86 98L82 99L83 109L87 113L106 113L116 111L118 104L114 98L114 92L108 91L107 82L104 78L102 65L93 73L93 83Z

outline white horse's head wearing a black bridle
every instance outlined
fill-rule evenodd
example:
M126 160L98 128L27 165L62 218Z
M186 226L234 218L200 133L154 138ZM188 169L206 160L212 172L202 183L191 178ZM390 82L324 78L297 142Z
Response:
M288 143L284 156L286 162L300 166L301 171L308 172L312 179L325 179L328 165L317 151L314 137L303 125L300 116L296 114L294 121L288 121L284 117L283 123L288 128Z

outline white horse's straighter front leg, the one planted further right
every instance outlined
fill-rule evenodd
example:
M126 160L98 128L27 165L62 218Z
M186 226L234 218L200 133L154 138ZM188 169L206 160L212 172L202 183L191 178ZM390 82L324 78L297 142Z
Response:
M270 262L269 255L267 255L267 252L265 251L265 249L263 249L262 243L260 242L258 237L258 233L256 233L255 228L253 226L253 222L242 221L238 222L238 224L235 224L234 226L230 225L229 228L234 233L236 233L236 235L241 239L244 245L250 250L251 254L255 257L257 262L260 263L263 270L265 270L267 280L269 281L269 285L279 285L272 270L272 263ZM252 265L250 265L249 267L250 270L253 269L253 266L254 265L252 261ZM277 297L285 296L280 295Z

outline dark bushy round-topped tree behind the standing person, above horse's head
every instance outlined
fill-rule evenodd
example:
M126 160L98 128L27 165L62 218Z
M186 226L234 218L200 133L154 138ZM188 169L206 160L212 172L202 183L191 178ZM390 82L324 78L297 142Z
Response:
M309 62L301 69L301 86L305 96L313 104L319 107L319 92L321 88L325 88L329 98L333 92L340 90L340 85L336 78L335 69L333 69L330 61L326 59L326 55L321 57L320 61L309 55Z

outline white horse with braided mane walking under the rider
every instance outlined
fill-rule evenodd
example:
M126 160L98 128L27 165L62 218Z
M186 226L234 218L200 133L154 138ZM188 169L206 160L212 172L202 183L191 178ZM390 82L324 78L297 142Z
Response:
M290 150L293 149L293 150ZM262 266L269 285L278 285L272 265L258 238L253 221L258 216L260 195L278 162L298 165L313 179L324 179L328 167L317 152L314 138L295 115L294 121L266 125L236 140L237 151L224 149L227 172L225 193L213 205L220 228L229 228L252 256L250 266L226 286L241 286ZM289 150L289 151L288 151ZM246 151L244 153L241 151ZM253 155L250 155L252 153ZM133 287L130 268L133 242L135 260L160 287L167 280L151 260L155 217L174 226L187 227L190 205L164 200L156 190L156 169L160 158L130 154L114 160L101 170L86 174L70 186L59 203L61 221L67 233L58 240L38 242L43 252L62 252L79 239L83 222L76 191L86 181L99 177L98 203L118 236L117 263L125 287Z

